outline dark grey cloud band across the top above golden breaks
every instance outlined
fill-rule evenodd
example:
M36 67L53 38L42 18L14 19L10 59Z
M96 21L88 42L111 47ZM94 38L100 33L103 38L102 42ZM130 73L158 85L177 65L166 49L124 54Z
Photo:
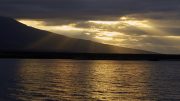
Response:
M15 18L113 19L129 14L178 18L179 0L1 0L0 15Z

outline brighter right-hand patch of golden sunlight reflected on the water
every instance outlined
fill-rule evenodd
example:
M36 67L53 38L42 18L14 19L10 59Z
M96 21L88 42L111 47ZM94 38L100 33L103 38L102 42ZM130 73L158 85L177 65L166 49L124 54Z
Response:
M145 65L147 64L132 66L126 62L95 62L91 67L91 76L94 78L90 82L94 91L92 96L105 101L139 101L138 98L148 96L150 91L143 83L147 82L149 75L149 71L144 69Z

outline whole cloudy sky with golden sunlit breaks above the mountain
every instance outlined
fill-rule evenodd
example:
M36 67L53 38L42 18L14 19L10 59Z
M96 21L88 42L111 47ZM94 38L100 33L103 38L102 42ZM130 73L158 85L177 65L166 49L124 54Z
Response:
M180 54L180 0L0 0L0 16L74 38Z

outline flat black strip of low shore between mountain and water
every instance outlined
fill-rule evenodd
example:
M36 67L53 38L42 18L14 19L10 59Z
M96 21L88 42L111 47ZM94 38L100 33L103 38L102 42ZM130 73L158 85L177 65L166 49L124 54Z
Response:
M1 52L1 58L16 59L76 59L76 60L180 60L172 54L106 54L106 53L60 53L60 52Z

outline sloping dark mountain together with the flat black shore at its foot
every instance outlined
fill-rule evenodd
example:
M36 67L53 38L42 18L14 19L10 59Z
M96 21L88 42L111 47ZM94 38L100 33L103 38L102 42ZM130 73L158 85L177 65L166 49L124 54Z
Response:
M0 58L180 60L180 55L117 47L75 39L0 17Z

